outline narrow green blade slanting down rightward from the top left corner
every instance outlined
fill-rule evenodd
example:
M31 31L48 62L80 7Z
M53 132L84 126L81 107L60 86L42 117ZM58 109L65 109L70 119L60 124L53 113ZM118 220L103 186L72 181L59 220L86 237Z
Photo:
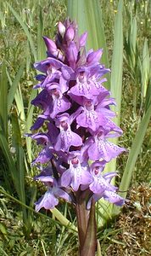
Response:
M14 17L16 18L16 20L19 21L20 23L20 26L22 26L24 32L25 32L25 35L26 37L28 38L29 42L30 42L30 46L31 46L31 52L34 56L34 59L35 61L37 60L37 56L36 56L36 49L35 49L35 46L34 46L34 42L32 40L32 37L31 37L31 33L29 32L28 30L28 27L25 25L24 21L21 19L20 15L18 15L16 13L16 11L13 9L13 7L8 3L8 8L10 9L10 11L13 13Z

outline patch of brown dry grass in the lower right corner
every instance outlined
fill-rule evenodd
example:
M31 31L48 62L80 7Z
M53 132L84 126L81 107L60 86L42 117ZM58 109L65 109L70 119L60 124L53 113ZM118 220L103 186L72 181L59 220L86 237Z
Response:
M121 229L114 236L106 249L105 256L149 256L151 252L151 188L148 184L132 187L130 202L115 224L115 230ZM122 245L123 243L123 245Z

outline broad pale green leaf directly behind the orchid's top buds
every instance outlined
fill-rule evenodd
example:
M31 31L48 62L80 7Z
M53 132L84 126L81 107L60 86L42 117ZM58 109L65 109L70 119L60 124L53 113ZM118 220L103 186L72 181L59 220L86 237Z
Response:
M76 20L80 34L85 31L88 32L87 49L103 48L101 61L106 67L109 67L103 15L99 1L68 0L67 14L71 20ZM109 81L107 87L109 88Z

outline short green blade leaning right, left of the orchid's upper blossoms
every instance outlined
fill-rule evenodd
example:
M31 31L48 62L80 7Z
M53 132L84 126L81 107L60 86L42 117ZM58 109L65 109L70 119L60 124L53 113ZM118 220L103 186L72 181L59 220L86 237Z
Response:
M25 67L25 65L22 64L18 73L16 74L13 84L11 85L11 87L8 91L8 113L9 113L12 103L14 101L14 95L15 95L17 87L20 83L20 78L24 72L24 67Z

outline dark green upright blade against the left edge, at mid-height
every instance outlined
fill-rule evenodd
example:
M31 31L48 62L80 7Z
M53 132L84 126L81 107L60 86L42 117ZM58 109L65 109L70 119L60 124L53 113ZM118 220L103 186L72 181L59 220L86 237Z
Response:
M6 74L6 65L3 61L2 74L0 78L0 125L3 134L8 138L8 80Z

